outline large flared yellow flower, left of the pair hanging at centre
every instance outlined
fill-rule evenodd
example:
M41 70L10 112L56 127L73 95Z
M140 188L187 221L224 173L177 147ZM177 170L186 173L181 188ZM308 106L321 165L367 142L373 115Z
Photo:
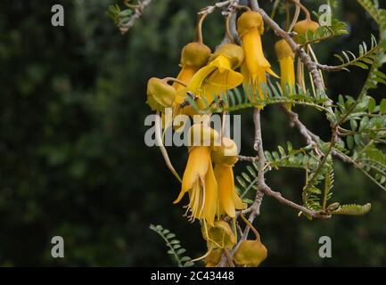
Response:
M188 193L190 201L186 212L190 211L190 220L199 219L213 226L218 213L218 183L210 159L210 146L206 145L217 140L218 133L201 124L193 125L190 131L191 139L199 137L203 146L190 148L181 191L174 203L177 204Z

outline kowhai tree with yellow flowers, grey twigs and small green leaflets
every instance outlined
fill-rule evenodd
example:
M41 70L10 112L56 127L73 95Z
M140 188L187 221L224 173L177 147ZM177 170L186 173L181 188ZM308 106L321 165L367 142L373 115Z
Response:
M328 1L331 6L333 2ZM151 1L126 4L125 10L119 5L109 9L123 33ZM373 0L357 0L357 4L377 24L379 35L369 35L369 41L359 45L357 53L336 54L341 62L335 66L319 63L313 49L349 33L344 22L333 18L333 11L328 12L329 20L324 22L321 18L325 15L309 12L300 0L275 1L270 14L256 0L228 0L198 12L196 37L182 49L180 72L149 80L146 95L148 105L157 114L155 136L167 167L181 182L174 203L182 203L187 196L185 216L201 224L201 237L207 244L203 256L191 259L185 256L185 248L174 233L152 225L151 229L167 242L168 253L175 256L178 265L202 260L207 266L259 266L269 256L269 248L253 224L265 196L294 208L300 218L310 221L328 220L335 215L365 215L371 209L370 203L342 204L333 199L336 159L356 167L386 190L386 99L376 102L371 96L378 85L386 84L386 75L380 70L386 61L386 11ZM214 12L224 16L226 35L211 51L204 43L202 30L204 20ZM275 21L277 13L285 15L283 25ZM264 52L267 33L277 37L275 59L267 58ZM279 61L280 70L272 69L270 61ZM355 68L368 70L363 87L355 97L342 94L333 101L324 72L336 72L339 77L340 72ZM303 147L294 149L289 140L287 145L277 146L277 151L265 151L260 118L269 105L281 106L304 137ZM308 129L307 121L300 121L294 111L300 107L324 114L324 123L331 129L329 140L322 140ZM255 135L250 142L255 156L239 154L236 142L226 132L226 115L243 109L254 110L250 119ZM210 118L216 114L222 118L219 130L210 126ZM168 128L176 132L186 128L186 121L173 122L181 115L188 120L194 118L187 132L190 143L182 178L168 158L163 135ZM235 164L244 164L245 171L234 178ZM301 204L286 199L266 183L267 172L286 167L305 173Z

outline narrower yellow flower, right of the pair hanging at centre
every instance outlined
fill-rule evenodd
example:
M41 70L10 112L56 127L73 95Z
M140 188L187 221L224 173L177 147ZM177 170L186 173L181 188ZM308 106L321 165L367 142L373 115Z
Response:
M222 145L214 147L211 158L215 163L215 176L218 182L219 215L235 217L235 210L245 208L234 189L234 164L237 162L237 145L224 137Z

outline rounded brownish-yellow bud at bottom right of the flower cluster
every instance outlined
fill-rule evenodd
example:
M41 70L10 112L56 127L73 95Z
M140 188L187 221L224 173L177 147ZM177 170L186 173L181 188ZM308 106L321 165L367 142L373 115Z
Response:
M267 248L260 240L244 240L234 254L238 265L257 267L267 258Z

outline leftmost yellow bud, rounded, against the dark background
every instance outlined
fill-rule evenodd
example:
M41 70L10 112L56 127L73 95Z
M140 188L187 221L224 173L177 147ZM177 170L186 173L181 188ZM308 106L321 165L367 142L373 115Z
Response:
M152 110L164 111L176 98L176 89L160 78L152 77L147 82L147 103Z

